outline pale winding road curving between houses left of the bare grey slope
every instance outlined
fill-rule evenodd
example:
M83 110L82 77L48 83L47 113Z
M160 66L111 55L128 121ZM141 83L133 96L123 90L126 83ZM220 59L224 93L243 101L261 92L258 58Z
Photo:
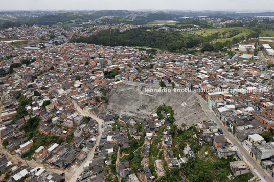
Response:
M90 116L92 119L95 119L98 122L99 136L97 136L96 144L92 148L92 151L89 152L89 154L87 155L86 160L81 164L81 166L77 169L77 171L74 172L74 174L71 177L71 179L69 180L69 182L75 182L77 180L77 178L80 176L81 172L83 171L83 166L84 166L85 162L90 161L91 159L93 159L95 148L96 148L97 145L99 145L100 139L102 137L102 133L104 132L104 129L101 127L101 125L104 124L104 121L102 119L99 119L94 115L91 115L90 113L88 113L88 111L82 110L76 103L74 103L74 106L75 106L75 108L77 108L77 110L81 114L83 114L85 116Z

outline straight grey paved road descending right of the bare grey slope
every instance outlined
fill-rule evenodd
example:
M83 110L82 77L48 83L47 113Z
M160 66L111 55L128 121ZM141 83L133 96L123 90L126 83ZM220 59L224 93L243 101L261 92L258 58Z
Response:
M270 178L270 174L267 171L264 171L262 169L262 167L256 162L254 161L254 159L249 155L249 153L247 153L247 151L243 148L243 146L239 143L239 141L236 139L236 137L234 137L229 131L227 131L227 129L221 124L220 120L215 116L215 114L213 113L213 111L209 108L209 105L207 104L207 102L205 102L204 99L201 98L201 96L195 92L194 93L195 96L197 96L197 98L200 100L200 103L202 105L202 107L204 108L204 110L207 112L208 116L214 120L214 121L219 121L216 122L217 126L219 128L222 129L224 135L229 138L229 140L238 148L238 150L242 153L243 157L248 161L250 168L255 167L255 172L258 174L259 177L261 177L261 181L274 181L273 178ZM269 176L268 176L269 175ZM265 176L265 179L264 179Z

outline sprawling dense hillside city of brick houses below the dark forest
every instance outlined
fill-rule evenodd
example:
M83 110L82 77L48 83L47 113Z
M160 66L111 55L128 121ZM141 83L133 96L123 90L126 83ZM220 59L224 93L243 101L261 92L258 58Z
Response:
M201 17L226 29L220 51L77 39L145 27L113 18L0 29L0 181L273 181L274 37L259 25L273 17ZM255 37L224 37L255 20ZM211 31L168 23L145 31Z

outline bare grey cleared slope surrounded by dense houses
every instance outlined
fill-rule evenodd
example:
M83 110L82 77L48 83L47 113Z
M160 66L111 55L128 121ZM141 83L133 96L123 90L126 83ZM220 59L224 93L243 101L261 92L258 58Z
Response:
M145 93L145 88L153 89L159 86L126 83L121 88L112 89L107 109L115 110L120 116L126 114L142 120L165 103L173 107L175 123L178 126L208 119L192 93ZM187 104L185 107L182 106L184 102Z

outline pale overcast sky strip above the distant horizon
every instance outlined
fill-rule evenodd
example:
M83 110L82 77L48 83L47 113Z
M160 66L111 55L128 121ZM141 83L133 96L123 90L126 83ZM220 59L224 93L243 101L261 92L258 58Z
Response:
M255 10L273 11L273 0L0 0L1 10Z

